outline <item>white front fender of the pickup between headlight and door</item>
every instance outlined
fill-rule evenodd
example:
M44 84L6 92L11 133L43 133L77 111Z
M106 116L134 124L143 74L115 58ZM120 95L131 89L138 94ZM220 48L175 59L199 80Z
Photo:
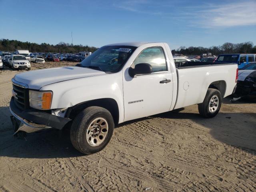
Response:
M107 74L58 82L42 87L40 90L53 92L51 109L68 108L76 104L112 98L118 104L119 122L124 120L122 74Z

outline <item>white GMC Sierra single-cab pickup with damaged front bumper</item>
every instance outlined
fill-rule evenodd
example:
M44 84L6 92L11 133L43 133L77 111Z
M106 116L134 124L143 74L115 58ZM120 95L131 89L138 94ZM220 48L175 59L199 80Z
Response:
M102 150L114 126L198 104L214 117L232 94L237 64L174 63L166 43L103 46L79 66L16 74L10 102L15 133L71 126L73 146Z

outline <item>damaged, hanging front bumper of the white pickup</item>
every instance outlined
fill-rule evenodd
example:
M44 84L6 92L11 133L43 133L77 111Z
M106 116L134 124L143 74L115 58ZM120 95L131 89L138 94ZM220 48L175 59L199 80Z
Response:
M27 133L40 130L56 128L61 130L71 119L55 116L34 108L20 110L14 103L14 98L10 101L10 116L14 128L14 135L19 131Z

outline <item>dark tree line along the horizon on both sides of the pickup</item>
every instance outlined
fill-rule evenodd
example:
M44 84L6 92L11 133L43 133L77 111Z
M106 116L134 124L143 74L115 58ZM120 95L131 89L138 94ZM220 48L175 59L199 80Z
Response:
M0 39L0 51L15 51L16 49L29 50L30 52L56 52L56 53L78 53L80 51L94 52L98 48L94 46L72 45L65 42L60 42L56 45L47 43L30 43L21 42L18 40ZM200 55L202 53L212 53L213 55L227 54L227 53L256 53L256 46L252 42L244 43L224 43L221 46L211 46L209 48L193 47L186 48L180 46L177 50L172 50L172 54L184 55Z

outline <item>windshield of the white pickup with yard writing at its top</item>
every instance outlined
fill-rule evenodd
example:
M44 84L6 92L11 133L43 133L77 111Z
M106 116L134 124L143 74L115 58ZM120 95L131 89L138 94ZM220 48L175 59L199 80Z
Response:
M84 59L82 67L118 72L137 47L134 46L104 46Z

